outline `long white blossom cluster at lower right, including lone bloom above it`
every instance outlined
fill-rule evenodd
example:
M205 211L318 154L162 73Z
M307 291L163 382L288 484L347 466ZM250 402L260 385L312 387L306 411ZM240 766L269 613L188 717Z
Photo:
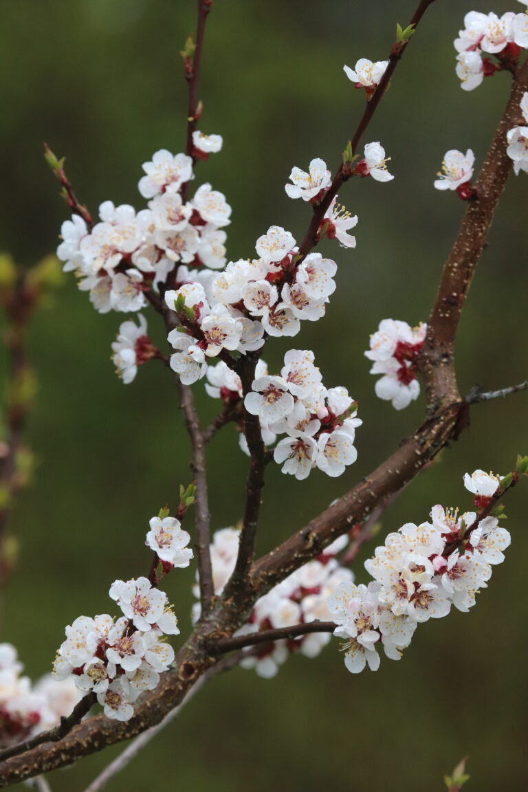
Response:
M472 477L466 474L465 484L489 501L500 480L477 470ZM510 541L496 517L458 516L458 509L440 505L431 509L431 522L407 523L389 534L365 562L374 580L368 585L344 581L327 601L337 625L334 635L346 641L348 671L359 673L366 665L375 671L379 644L387 657L399 660L419 623L446 616L453 605L469 611Z

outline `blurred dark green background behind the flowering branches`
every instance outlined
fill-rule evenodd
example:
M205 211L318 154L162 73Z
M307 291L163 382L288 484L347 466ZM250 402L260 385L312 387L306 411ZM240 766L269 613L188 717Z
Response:
M359 57L384 59L394 26L414 0L217 0L208 21L200 128L224 135L222 154L197 166L233 206L230 259L251 257L276 223L300 240L310 211L287 199L291 166L320 156L335 167L363 109L343 73ZM396 447L423 414L420 398L395 412L374 398L363 357L382 318L427 319L439 270L464 205L432 188L444 152L473 148L481 162L508 93L507 74L464 93L452 40L466 11L519 12L439 0L405 54L368 131L392 157L394 181L354 180L340 196L359 215L357 248L325 243L340 265L324 322L306 322L294 345L313 348L328 386L359 400L359 461L334 480L307 482L270 466L259 549L301 527ZM184 145L186 85L179 50L195 26L192 0L2 0L0 6L0 249L29 265L55 249L66 206L44 166L42 143L66 154L66 172L93 211L102 200L142 208L141 163ZM458 336L462 393L526 378L526 177L511 177ZM32 328L39 398L28 435L39 460L12 530L21 542L0 640L17 645L27 672L50 668L63 627L111 607L116 577L142 573L147 520L176 505L188 482L188 441L171 378L150 364L131 386L112 371L110 343L122 315L100 316L67 280ZM161 338L151 317L154 337ZM273 341L278 367L291 342ZM195 387L204 420L215 406ZM511 470L528 453L526 394L478 406L469 432L401 495L384 530L427 518L431 505L469 508L462 474ZM247 460L233 428L209 453L213 527L241 516ZM442 775L469 754L468 790L526 789L526 506L507 499L513 546L469 614L453 611L417 631L401 663L351 676L337 643L322 657L292 657L272 681L236 670L199 693L180 721L108 790L351 792L441 790ZM359 580L365 573L357 569ZM169 578L182 632L194 570ZM175 641L177 644L177 641ZM82 790L120 748L51 775L55 792Z

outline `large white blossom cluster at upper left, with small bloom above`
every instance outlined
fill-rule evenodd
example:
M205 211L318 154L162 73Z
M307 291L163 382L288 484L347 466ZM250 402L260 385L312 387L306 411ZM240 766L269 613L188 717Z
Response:
M219 150L220 144L219 135L196 132L195 150ZM162 149L143 170L139 192L150 199L148 208L136 212L128 204L104 201L101 222L91 230L78 215L61 228L57 255L101 314L140 310L146 305L144 292L165 283L179 264L220 269L226 263L222 228L230 223L231 208L225 196L209 184L201 185L192 200L181 196L194 178L192 158Z

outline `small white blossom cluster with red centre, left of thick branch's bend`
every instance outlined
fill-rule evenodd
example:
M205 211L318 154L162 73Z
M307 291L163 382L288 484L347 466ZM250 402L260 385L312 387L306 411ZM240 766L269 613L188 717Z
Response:
M374 390L378 398L392 402L394 409L404 409L420 394L417 363L426 333L425 322L411 327L407 322L383 319L370 336L370 349L365 352L374 361L370 374L383 375Z

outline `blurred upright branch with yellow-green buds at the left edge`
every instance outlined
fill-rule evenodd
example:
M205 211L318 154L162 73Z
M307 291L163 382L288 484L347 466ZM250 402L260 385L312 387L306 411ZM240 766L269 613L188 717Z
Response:
M0 307L6 373L0 435L0 630L2 600L6 583L17 561L18 543L9 534L9 513L17 492L31 480L33 458L24 442L28 414L36 393L36 376L28 361L28 326L40 305L63 281L59 261L45 257L32 268L15 265L6 253L0 255Z

